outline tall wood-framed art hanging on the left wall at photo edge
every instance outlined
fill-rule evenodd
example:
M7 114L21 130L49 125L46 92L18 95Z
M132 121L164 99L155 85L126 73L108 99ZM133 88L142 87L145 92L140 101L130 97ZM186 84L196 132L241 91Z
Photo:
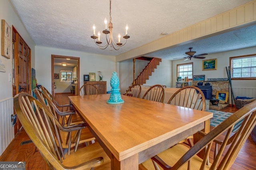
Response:
M11 27L2 20L2 50L1 55L10 59L11 54Z

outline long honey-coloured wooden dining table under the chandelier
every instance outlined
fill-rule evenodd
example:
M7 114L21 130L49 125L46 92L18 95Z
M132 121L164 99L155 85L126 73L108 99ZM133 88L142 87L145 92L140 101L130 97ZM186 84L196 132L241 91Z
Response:
M138 164L199 130L210 130L212 113L122 95L69 96L70 103L111 159L112 170L136 170Z

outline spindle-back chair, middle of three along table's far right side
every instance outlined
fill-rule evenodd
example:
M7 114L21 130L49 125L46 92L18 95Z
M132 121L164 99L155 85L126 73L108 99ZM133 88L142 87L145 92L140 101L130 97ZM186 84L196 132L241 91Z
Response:
M145 92L142 99L164 103L164 87L162 85L151 86Z

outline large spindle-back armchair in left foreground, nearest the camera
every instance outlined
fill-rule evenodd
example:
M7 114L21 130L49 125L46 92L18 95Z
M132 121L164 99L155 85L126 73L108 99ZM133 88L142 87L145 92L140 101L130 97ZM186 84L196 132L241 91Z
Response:
M14 97L14 109L50 169L110 169L110 158L98 142L64 155L59 131L81 127L62 127L44 103L23 92Z

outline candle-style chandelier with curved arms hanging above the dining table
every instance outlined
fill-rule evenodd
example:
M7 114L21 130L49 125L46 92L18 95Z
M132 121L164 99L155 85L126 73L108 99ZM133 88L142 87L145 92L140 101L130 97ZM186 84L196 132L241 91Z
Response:
M95 34L95 25L93 25L93 36L91 36L91 38L94 39L94 42L96 43L96 45L99 46L100 49L106 49L108 47L108 45L110 45L109 50L112 51L113 49L118 50L120 47L122 47L124 44L126 44L127 39L130 38L130 36L128 36L128 25L126 24L126 32L125 32L125 36L123 36L123 38L125 39L125 43L122 44L120 42L120 34L118 34L118 42L115 43L114 39L113 39L113 32L112 32L112 28L113 28L113 24L111 22L111 0L110 0L110 8L109 8L110 12L109 12L109 23L108 21L104 20L105 23L105 30L102 31L103 34L106 34L106 41L107 43L105 45L101 45L101 41L100 41L100 32L98 32L98 36L96 36ZM108 23L108 28L107 28L107 23ZM108 30L109 29L109 30ZM109 36L108 36L109 34ZM98 40L96 40L98 38Z

